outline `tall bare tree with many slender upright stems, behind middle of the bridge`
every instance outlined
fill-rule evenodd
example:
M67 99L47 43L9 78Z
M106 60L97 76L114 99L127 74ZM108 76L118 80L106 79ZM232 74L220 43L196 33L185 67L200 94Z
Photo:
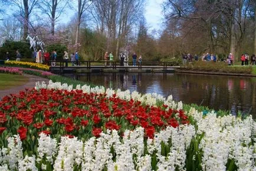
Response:
M125 44L129 30L139 23L143 16L144 0L96 0L93 3L92 15L100 30L107 35L107 51L119 49Z

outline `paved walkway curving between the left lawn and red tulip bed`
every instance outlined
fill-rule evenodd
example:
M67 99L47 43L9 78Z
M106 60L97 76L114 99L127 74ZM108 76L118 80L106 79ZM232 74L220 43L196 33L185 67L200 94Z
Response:
M41 77L37 77L34 75L28 75L28 74L23 74L25 77L29 78L29 81L27 84L18 86L18 87L13 87L11 89L7 89L7 90L0 90L0 100L2 97L9 95L9 94L18 94L19 91L25 90L25 88L34 88L35 87L35 82L37 81L45 81L45 83L48 83L48 79L46 78L41 78Z

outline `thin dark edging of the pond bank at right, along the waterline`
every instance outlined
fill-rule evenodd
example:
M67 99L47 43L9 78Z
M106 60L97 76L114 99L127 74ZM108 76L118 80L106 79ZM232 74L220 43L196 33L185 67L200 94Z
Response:
M208 75L231 75L238 77L256 77L256 74L239 74L239 73L222 73L222 72L211 72L211 71L191 71L191 70L175 70L175 73L190 73L190 74L208 74Z

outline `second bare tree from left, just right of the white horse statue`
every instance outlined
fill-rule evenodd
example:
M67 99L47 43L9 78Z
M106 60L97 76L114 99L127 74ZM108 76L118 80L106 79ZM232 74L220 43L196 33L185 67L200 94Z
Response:
M70 1L67 0L42 0L38 3L43 14L51 19L51 35L55 33L55 22L63 14Z

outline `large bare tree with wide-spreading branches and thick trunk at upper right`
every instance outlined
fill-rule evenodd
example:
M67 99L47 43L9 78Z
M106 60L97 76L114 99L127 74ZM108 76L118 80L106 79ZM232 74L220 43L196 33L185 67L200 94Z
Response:
M205 50L216 52L217 48L222 47L225 52L232 52L237 57L245 38L250 1L168 1L164 6L165 18L167 22L179 19L180 33L188 28L187 32L182 33L185 39L191 37L195 28L201 27L202 32L207 33L204 37L208 41Z

